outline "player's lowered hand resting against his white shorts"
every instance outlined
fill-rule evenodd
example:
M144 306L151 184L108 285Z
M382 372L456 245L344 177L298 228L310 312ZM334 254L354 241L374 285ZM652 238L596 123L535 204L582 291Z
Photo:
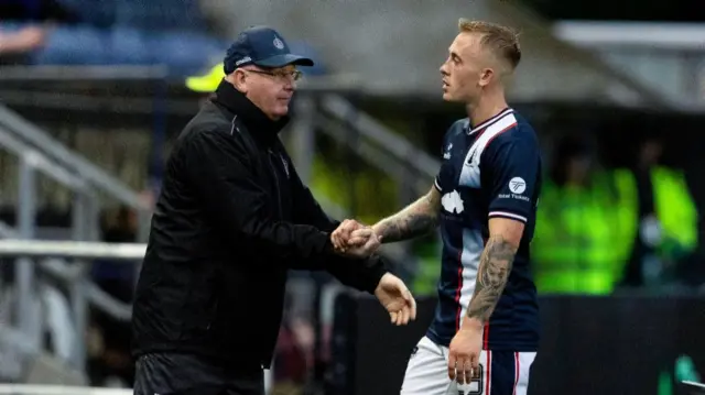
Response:
M466 320L448 348L448 377L458 384L469 384L479 373L481 351L482 326L469 325Z

